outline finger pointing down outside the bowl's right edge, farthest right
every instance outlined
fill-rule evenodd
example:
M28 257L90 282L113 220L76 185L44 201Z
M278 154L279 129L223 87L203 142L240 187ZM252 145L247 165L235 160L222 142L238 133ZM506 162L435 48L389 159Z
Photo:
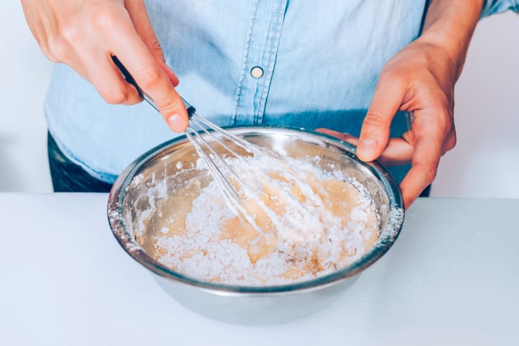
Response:
M406 209L435 179L441 156L440 143L441 141L435 140L432 136L417 138L411 169L400 185Z

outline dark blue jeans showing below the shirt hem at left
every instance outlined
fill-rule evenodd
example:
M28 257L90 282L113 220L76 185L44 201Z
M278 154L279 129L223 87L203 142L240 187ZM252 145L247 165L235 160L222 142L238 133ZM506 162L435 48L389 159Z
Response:
M51 136L47 136L48 165L54 192L110 192L111 184L95 179L67 158Z

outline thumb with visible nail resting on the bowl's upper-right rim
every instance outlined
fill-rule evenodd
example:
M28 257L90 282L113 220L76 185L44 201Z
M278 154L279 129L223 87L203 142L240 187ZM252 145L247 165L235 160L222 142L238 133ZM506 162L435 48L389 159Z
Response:
M361 160L373 161L382 154L388 144L391 121L405 93L401 80L390 78L384 73L381 75L359 137L357 155Z

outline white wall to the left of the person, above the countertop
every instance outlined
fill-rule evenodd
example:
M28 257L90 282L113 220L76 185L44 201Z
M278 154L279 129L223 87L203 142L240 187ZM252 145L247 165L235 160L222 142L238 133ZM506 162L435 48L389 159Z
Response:
M51 191L43 102L52 64L19 1L2 1L0 44L0 191Z

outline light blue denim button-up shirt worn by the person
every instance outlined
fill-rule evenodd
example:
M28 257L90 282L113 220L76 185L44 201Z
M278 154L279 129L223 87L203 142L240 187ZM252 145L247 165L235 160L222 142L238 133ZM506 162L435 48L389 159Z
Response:
M425 0L146 3L181 81L177 91L199 114L219 125L328 127L354 135L383 65L419 36L426 8ZM482 16L508 9L519 10L519 0L487 0ZM45 111L64 154L109 183L138 155L176 136L145 102L106 104L63 64L53 71ZM392 136L405 130L399 115Z

